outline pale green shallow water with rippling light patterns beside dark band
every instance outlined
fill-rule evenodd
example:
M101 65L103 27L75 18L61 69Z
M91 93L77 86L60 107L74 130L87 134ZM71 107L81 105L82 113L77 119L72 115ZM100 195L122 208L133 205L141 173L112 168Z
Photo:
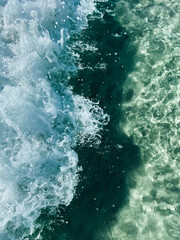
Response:
M123 104L123 131L140 147L129 202L112 239L180 239L179 1L120 1L119 19L137 49ZM127 96L127 95L126 95Z

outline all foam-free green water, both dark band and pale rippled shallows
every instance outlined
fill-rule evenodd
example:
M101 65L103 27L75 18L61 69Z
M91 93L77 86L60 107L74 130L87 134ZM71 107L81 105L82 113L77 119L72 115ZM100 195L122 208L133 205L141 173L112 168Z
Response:
M180 239L178 3L115 5L99 3L103 17L75 37L98 50L75 47L82 69L70 84L110 122L99 146L76 148L76 195L45 240Z

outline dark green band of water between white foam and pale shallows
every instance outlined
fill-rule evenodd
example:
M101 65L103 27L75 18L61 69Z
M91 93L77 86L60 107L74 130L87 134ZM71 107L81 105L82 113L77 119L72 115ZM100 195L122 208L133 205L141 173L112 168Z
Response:
M45 240L98 240L96 233L104 232L116 222L116 213L126 203L129 189L126 176L140 165L138 147L120 132L119 120L123 121L121 101L122 86L133 68L135 49L130 47L128 33L114 14L115 3L100 3L98 9L103 18L91 17L89 26L78 40L96 44L97 52L76 48L81 64L88 68L79 70L71 79L74 92L95 102L110 115L110 122L103 130L101 144L79 146L80 172L76 195L66 208L60 207L57 216L40 222L52 224L44 230ZM107 10L111 10L108 13ZM96 68L98 63L106 69ZM130 94L125 96L128 100ZM48 220L48 221L47 221ZM64 223L62 223L64 222Z

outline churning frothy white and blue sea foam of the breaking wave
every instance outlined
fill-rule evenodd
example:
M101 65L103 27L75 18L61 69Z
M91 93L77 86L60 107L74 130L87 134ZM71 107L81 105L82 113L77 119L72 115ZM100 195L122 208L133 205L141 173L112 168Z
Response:
M0 2L0 239L24 239L41 210L68 205L78 181L77 142L99 139L107 115L73 95L69 38L91 0Z

